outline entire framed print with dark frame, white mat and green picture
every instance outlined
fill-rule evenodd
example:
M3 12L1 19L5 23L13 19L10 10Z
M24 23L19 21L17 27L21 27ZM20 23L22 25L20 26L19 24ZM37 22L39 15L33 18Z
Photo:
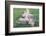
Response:
M45 4L40 2L5 2L6 35L45 32Z

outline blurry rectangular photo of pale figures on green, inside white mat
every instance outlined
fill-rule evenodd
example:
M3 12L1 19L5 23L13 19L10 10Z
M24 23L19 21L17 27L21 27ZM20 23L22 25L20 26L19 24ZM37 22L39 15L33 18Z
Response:
M13 27L39 27L39 9L13 8Z

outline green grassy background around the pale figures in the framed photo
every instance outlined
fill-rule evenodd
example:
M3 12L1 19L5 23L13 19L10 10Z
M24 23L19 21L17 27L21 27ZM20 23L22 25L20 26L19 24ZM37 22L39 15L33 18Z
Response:
M25 8L13 8L13 26L16 27L32 27L30 24L18 24L19 17L21 17L22 12L26 10ZM32 13L35 17L35 26L39 26L39 9L29 9L29 12Z

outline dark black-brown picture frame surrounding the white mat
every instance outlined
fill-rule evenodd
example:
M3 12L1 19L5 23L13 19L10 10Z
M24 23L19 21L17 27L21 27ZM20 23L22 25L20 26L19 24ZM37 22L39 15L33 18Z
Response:
M43 30L42 31L33 31L33 32L13 32L13 33L9 33L9 23L10 23L10 7L9 5L10 4L15 4L15 3L19 3L19 4L26 4L26 5L42 5L43 9L42 9L42 12L43 12ZM42 2L20 2L20 1L5 1L5 35L19 35L19 34L37 34L37 33L45 33L45 3L42 3Z

